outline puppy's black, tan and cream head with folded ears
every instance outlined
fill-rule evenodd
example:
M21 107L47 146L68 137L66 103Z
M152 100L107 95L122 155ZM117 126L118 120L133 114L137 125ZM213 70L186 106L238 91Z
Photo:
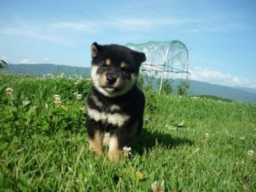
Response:
M136 83L139 66L146 60L125 46L92 43L92 83L107 97L126 94Z

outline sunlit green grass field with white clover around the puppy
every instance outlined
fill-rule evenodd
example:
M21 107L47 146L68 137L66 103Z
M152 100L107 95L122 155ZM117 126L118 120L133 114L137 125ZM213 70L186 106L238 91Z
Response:
M112 164L88 149L89 80L0 82L0 191L256 191L256 105L146 90L142 137Z

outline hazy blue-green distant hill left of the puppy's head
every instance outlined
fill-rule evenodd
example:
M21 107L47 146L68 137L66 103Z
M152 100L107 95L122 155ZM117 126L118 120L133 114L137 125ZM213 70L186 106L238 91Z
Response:
M65 73L65 75L90 76L90 68L53 64L9 64L8 68L4 69L4 71L5 73L34 75L36 77L42 77L48 73L53 75Z

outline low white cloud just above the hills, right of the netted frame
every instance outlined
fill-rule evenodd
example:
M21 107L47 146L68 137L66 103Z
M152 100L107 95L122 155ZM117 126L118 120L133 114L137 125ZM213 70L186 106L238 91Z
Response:
M247 78L236 77L230 74L223 74L217 70L211 70L209 68L194 68L190 70L192 73L190 76L191 80L198 80L202 82L210 82L218 85L227 86L240 86L255 88L256 82L252 82Z

